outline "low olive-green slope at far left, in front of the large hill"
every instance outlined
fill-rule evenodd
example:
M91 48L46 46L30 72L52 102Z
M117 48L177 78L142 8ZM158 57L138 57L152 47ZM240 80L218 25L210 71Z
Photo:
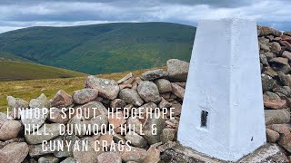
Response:
M72 78L85 76L85 73L68 71L30 62L1 62L1 81L24 81L38 79Z

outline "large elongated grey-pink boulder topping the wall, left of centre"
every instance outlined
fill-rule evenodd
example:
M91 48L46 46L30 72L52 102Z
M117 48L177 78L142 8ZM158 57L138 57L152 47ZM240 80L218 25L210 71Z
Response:
M119 92L119 86L114 80L95 78L94 76L87 77L85 88L96 89L100 96L109 100L114 100Z

